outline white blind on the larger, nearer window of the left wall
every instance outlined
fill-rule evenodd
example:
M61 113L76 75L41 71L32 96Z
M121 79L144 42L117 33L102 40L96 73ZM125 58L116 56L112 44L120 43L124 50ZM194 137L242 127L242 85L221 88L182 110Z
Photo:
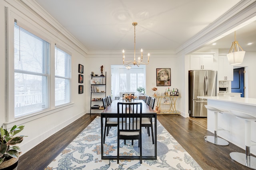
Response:
M50 43L14 24L14 117L49 108Z

